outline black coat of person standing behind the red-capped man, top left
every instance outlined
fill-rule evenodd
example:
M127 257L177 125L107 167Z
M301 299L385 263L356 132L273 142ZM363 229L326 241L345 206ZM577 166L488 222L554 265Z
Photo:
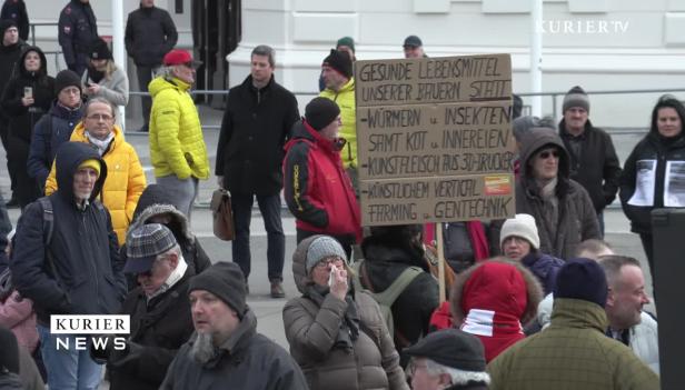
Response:
M126 52L136 66L158 67L176 46L178 32L169 12L140 7L129 13L123 39Z

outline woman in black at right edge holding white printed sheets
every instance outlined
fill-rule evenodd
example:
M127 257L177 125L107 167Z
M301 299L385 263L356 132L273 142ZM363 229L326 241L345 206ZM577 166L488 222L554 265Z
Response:
M633 149L621 176L621 204L654 276L653 209L685 207L685 107L665 94L652 110L649 133ZM654 280L654 279L653 279Z

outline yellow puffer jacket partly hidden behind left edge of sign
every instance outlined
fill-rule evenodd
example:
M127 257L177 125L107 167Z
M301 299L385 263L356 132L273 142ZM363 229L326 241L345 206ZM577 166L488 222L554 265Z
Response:
M335 101L340 108L340 119L343 120L340 137L347 140L345 148L340 151L340 158L343 158L343 164L345 168L357 168L357 110L355 108L355 79L349 79L349 81L337 92L326 88L319 96L321 98L327 98Z

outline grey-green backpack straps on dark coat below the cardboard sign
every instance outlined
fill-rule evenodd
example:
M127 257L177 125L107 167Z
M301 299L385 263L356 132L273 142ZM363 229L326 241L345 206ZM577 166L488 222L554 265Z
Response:
M371 282L366 273L366 269L363 268L363 266L364 259L360 259L353 264L353 269L355 270L353 277L353 283L355 286L355 289L358 291L364 290L369 296L371 296L371 298L374 298L374 300L378 303L378 307L380 308L380 316L383 317L383 320L385 321L390 336L395 338L395 321L393 319L391 310L393 303L395 303L397 297L399 297L399 294L403 293L405 289L414 281L414 279L416 279L416 277L424 272L424 270L419 267L407 267L399 274L399 277L397 277L397 279L395 279L395 281L387 289L385 289L385 291L375 292L373 290ZM365 288L364 284L361 284L360 274L364 278L366 284L368 286L368 289Z

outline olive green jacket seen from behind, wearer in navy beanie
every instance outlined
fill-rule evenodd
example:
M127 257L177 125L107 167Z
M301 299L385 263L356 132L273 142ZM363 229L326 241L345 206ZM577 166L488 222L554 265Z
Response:
M599 306L555 299L552 324L488 364L490 390L659 389L659 379L633 351L607 338Z

